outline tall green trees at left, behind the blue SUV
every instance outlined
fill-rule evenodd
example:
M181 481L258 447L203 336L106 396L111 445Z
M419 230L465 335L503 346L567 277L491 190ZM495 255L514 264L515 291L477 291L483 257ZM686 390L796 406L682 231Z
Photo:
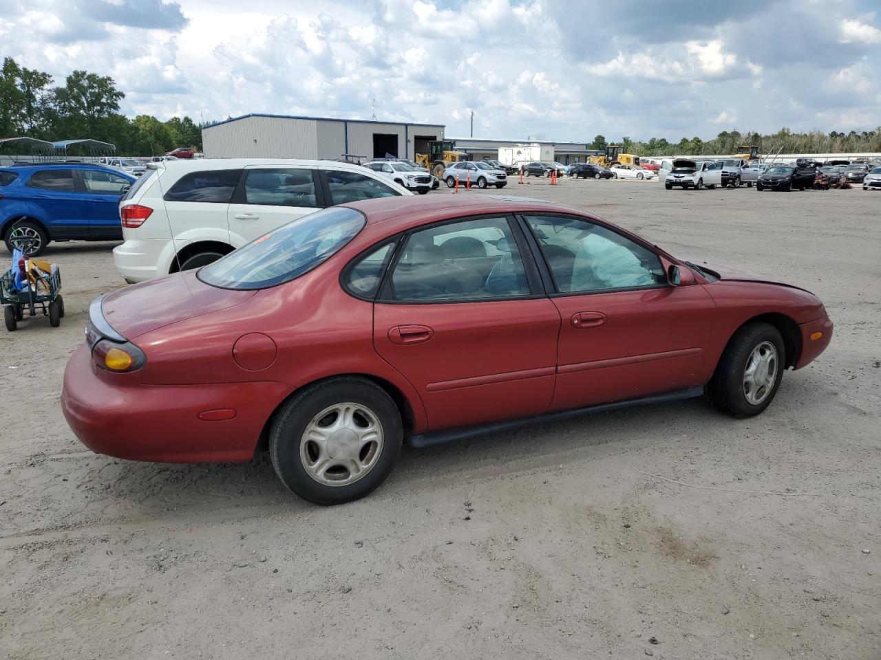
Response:
M152 156L177 147L202 150L202 128L189 117L159 121L149 114L119 114L125 94L112 77L73 71L63 85L44 72L4 57L0 70L0 137L41 140L91 138L116 145L116 153ZM20 148L19 148L20 150Z

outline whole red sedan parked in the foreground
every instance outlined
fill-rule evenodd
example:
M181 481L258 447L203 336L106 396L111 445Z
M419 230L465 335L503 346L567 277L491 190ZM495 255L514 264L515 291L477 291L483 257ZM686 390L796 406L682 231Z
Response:
M318 211L94 301L62 406L93 451L240 461L311 502L421 446L708 392L762 412L828 345L799 287L693 264L589 213L482 196Z

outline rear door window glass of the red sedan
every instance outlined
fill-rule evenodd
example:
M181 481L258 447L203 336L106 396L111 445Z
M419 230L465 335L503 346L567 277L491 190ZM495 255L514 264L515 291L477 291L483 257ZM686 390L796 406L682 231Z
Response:
M492 300L529 295L514 235L504 217L417 231L391 277L402 302Z

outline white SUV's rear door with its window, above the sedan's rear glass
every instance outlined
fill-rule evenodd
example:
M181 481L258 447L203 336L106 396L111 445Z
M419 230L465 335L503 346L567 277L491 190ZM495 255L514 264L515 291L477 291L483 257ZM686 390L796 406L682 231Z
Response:
M226 209L230 235L248 242L322 209L316 180L308 166L247 165Z

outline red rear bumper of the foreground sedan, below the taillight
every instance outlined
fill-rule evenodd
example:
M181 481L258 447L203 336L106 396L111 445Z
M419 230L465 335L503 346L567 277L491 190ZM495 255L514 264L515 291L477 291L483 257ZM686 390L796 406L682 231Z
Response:
M136 374L119 374L122 378L117 385L95 371L84 344L64 370L64 419L79 441L95 453L131 460L248 460L273 410L291 392L290 385L265 382L141 385ZM205 411L225 409L233 409L235 416L221 422L198 417Z

